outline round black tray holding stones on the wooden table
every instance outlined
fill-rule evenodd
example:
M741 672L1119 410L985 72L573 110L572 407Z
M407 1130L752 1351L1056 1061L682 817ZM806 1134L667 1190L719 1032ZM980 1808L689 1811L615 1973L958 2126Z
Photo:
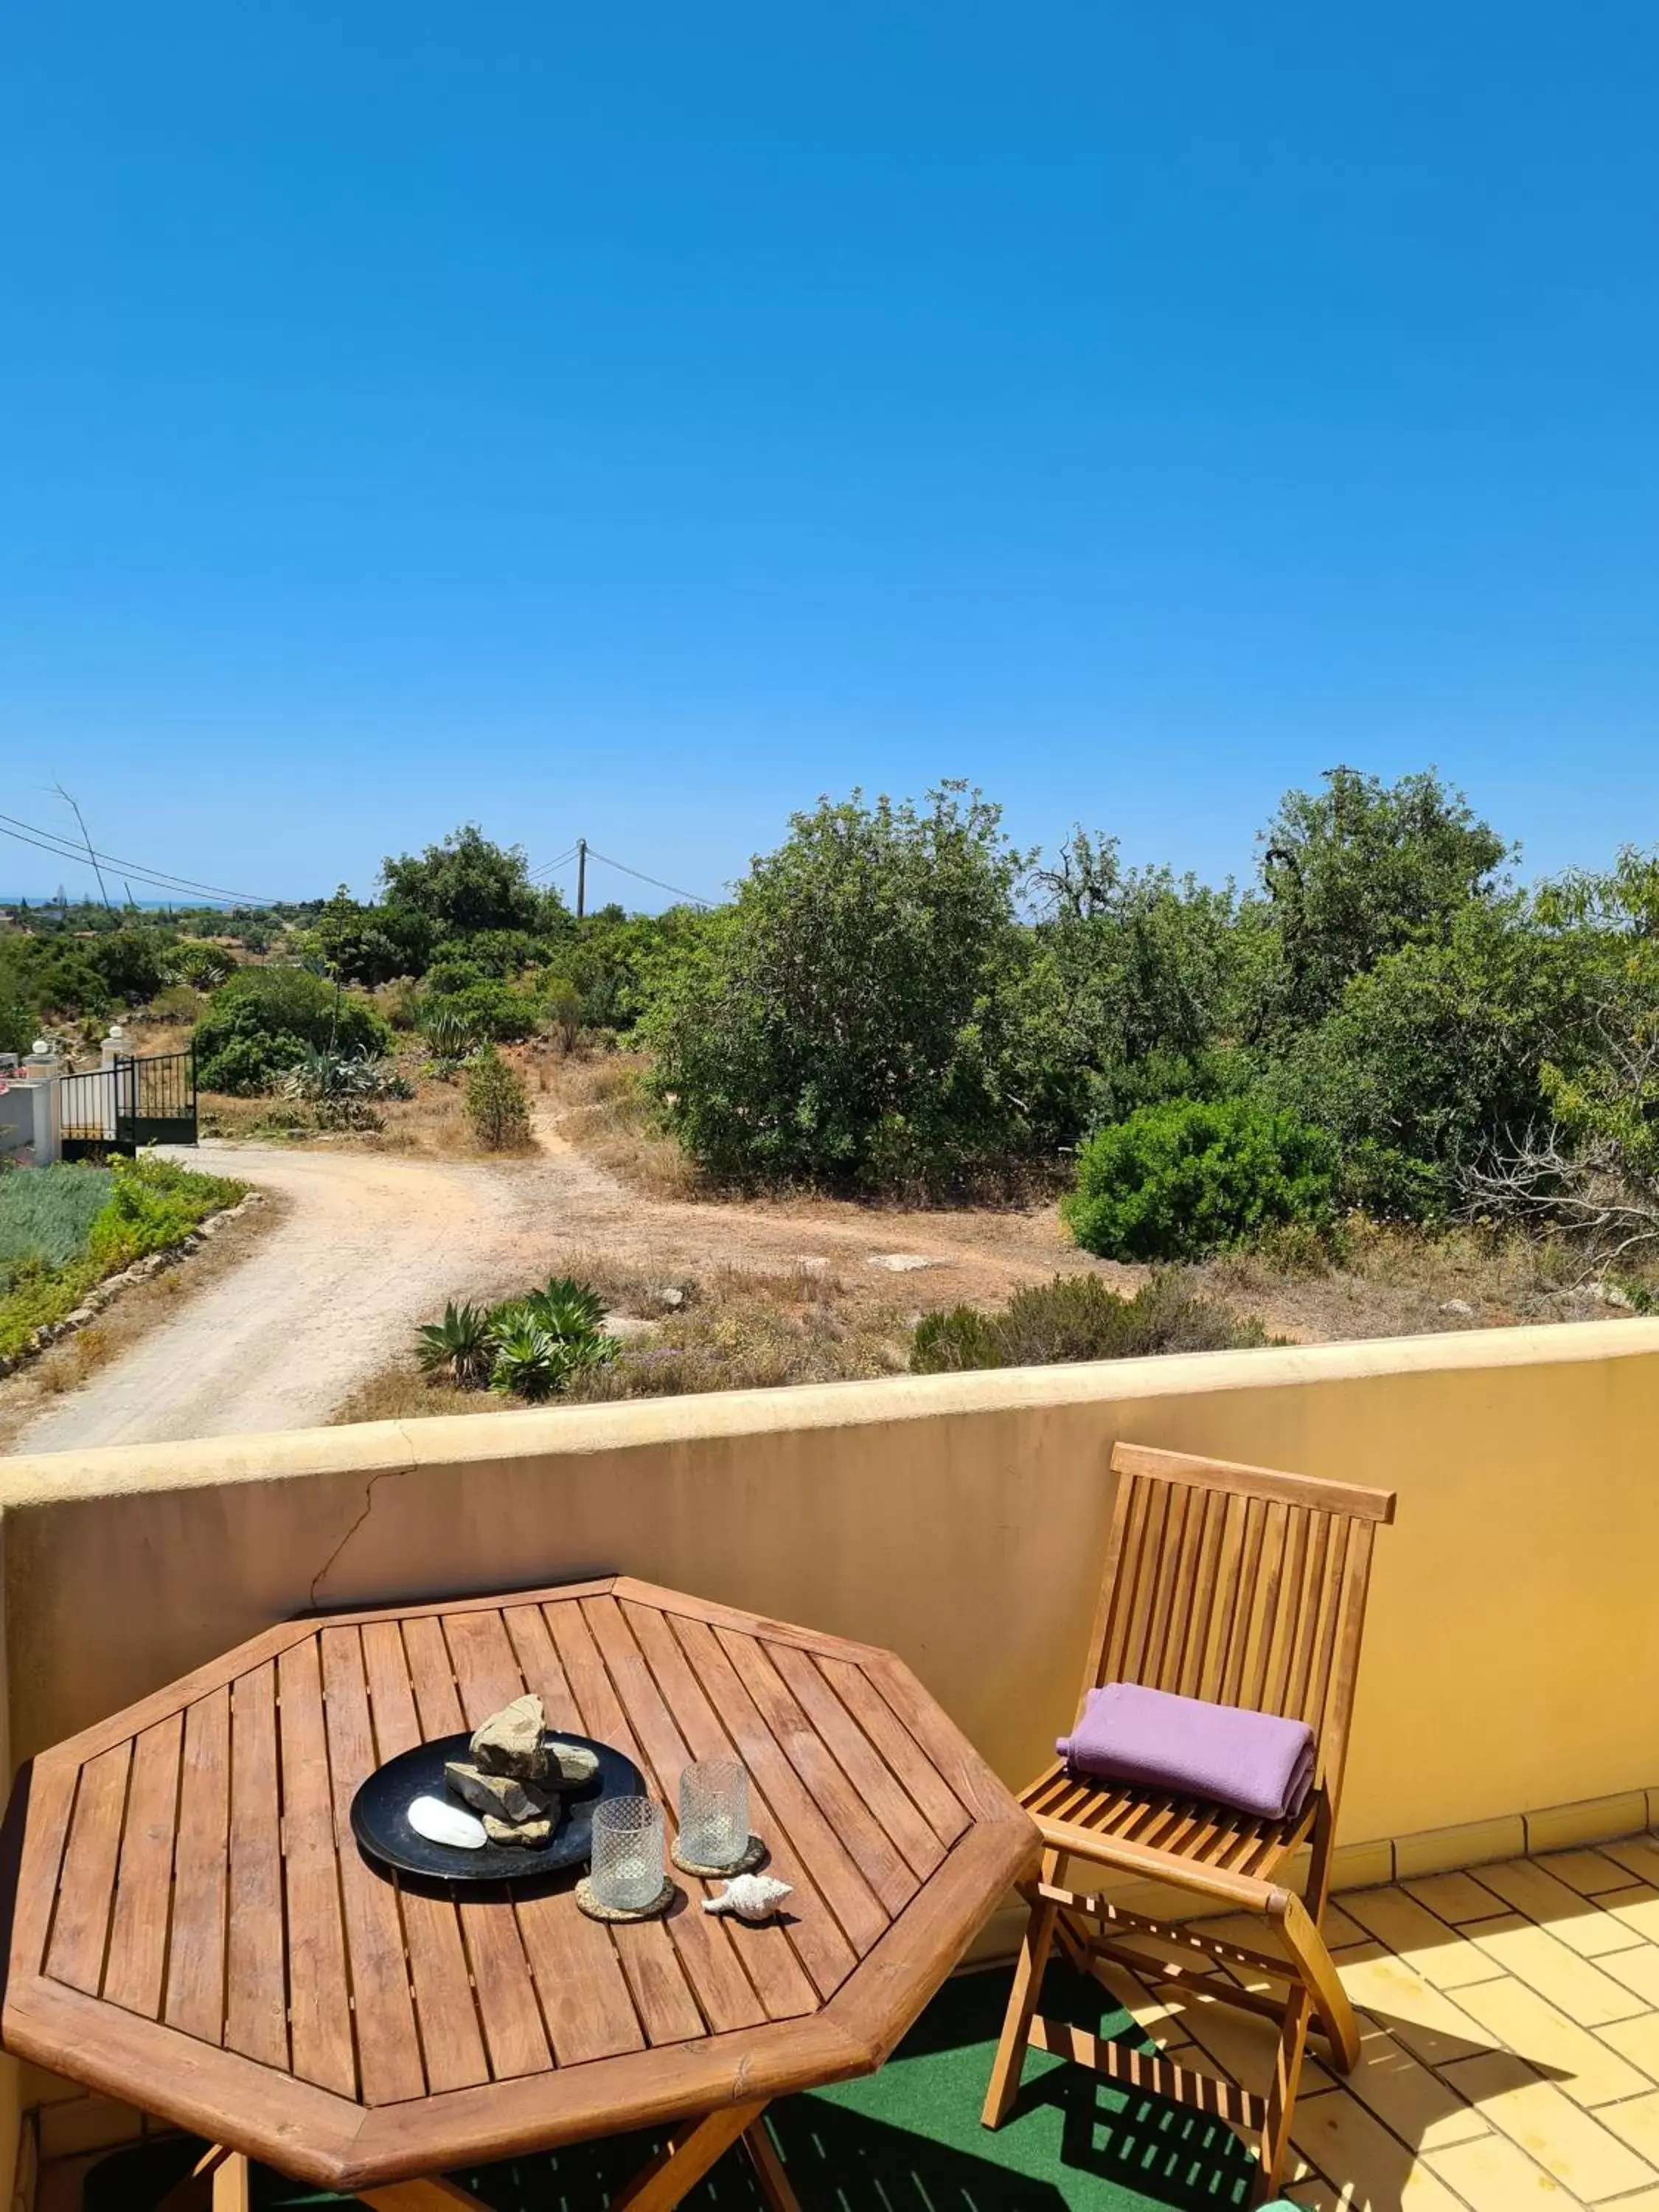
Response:
M478 1851L467 1851L456 1843L427 1843L409 1827L405 1812L418 1796L447 1798L471 1812L445 1781L445 1763L469 1756L471 1736L462 1734L416 1743L369 1774L352 1798L352 1834L358 1849L383 1867L418 1874L429 1882L526 1882L538 1874L586 1865L593 1851L593 1807L608 1796L644 1796L646 1783L633 1759L613 1752L608 1743L595 1743L593 1736L549 1730L549 1743L580 1743L584 1752L599 1756L599 1772L591 1783L560 1792L560 1825L549 1843L535 1849L484 1843Z

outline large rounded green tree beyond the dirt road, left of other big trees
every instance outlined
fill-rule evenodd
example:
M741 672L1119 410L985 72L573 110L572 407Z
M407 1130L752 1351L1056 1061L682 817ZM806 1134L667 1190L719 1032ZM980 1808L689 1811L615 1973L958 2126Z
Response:
M1026 1141L1013 1060L1029 856L960 783L796 814L690 931L646 1031L695 1159L739 1177L942 1183Z

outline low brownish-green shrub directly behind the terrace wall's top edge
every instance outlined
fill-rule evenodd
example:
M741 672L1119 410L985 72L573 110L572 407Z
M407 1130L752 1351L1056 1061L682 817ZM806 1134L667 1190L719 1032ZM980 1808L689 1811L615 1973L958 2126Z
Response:
M1135 1360L1159 1352L1232 1352L1265 1345L1259 1321L1192 1290L1179 1270L1155 1274L1133 1298L1097 1274L1057 1274L1018 1290L1000 1314L956 1305L916 1323L911 1374L973 1367L1051 1367Z

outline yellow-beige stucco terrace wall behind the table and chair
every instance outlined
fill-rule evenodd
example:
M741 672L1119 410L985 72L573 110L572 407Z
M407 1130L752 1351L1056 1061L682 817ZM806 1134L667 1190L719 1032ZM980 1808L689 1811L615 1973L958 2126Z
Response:
M1347 1840L1659 1785L1648 1321L0 1462L13 1756L305 1608L622 1568L894 1646L1018 1783L1117 1438L1398 1489Z

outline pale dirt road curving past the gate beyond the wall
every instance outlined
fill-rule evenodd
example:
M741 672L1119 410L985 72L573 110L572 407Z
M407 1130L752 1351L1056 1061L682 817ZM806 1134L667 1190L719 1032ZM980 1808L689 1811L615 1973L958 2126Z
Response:
M664 1276L827 1259L843 1274L869 1270L883 1296L942 1305L1006 1296L1053 1274L1064 1252L1051 1212L646 1199L553 1130L540 1157L500 1164L212 1141L177 1157L279 1192L283 1219L241 1265L33 1418L13 1451L325 1422L445 1298L500 1298L582 1254ZM894 1256L927 1270L869 1265Z

